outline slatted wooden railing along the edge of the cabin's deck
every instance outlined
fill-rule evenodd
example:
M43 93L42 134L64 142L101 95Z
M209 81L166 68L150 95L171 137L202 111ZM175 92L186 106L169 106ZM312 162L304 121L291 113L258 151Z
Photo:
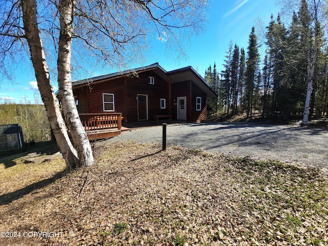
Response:
M88 113L79 116L86 131L121 130L122 113Z

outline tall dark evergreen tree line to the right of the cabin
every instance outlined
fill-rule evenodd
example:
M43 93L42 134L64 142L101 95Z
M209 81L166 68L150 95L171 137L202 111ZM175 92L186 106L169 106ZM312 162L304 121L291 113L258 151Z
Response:
M320 3L320 2L319 2ZM258 43L255 28L247 50L229 44L223 70L210 65L205 79L217 92L208 104L211 114L254 113L283 120L326 117L328 108L328 50L325 47L324 16L315 0L301 0L286 25L280 15L271 16L265 42ZM263 57L259 46L265 47Z

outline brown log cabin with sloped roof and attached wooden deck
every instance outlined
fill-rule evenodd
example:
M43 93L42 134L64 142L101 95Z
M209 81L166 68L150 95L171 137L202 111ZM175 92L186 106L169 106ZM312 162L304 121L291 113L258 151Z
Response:
M217 96L192 67L167 72L158 63L72 84L90 140L119 135L126 122L200 122L206 119L207 97Z

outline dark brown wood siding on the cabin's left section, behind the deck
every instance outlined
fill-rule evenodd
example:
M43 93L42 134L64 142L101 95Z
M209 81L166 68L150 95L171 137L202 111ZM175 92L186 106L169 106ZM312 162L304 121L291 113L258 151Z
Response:
M154 85L149 77L154 77ZM88 91L89 90L89 91ZM115 111L122 113L124 121L138 120L137 95L148 95L148 119L153 115L172 114L170 111L169 83L154 72L139 73L138 76L104 80L74 89L80 113L103 113L103 93L114 94ZM166 108L160 108L160 99L166 99ZM80 107L81 105L81 107Z

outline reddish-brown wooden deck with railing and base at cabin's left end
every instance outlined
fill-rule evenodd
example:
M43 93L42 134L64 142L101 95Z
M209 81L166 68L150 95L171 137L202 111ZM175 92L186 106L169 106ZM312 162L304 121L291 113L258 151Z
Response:
M89 140L118 136L121 133L121 113L79 114Z

